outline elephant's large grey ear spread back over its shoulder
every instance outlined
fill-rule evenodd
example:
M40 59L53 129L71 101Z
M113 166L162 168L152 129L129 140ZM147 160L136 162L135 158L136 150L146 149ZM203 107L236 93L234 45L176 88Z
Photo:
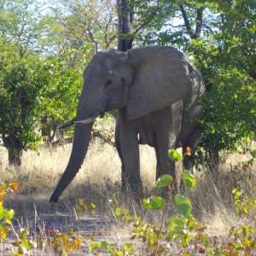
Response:
M151 46L131 49L128 63L136 68L126 106L127 118L137 119L192 94L189 73L194 68L172 47Z

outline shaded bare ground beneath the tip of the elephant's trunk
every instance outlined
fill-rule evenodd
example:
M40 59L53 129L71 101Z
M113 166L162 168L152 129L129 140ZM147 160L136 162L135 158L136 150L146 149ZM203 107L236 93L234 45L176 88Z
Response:
M33 198L29 195L7 195L4 207L14 209L15 218L9 239L0 241L0 255L14 253L11 242L17 241L20 228L29 230L30 240L45 241L43 248L32 250L31 255L56 255L52 248L46 248L46 237L53 237L54 230L61 233L73 230L78 236L94 236L96 241L119 241L119 238L111 232L114 226L113 218L100 217L93 212L78 212L75 204L72 206L68 201L50 204L49 199L44 196ZM90 254L89 243L90 241L87 243L83 240L81 250L68 255Z

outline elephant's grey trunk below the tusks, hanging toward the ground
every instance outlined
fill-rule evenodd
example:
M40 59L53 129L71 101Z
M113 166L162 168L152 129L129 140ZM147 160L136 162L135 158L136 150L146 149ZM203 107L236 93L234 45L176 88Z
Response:
M73 148L70 155L70 159L67 164L65 172L62 174L61 179L51 195L49 201L57 202L61 193L67 188L68 184L71 183L73 177L79 172L80 167L83 164L85 154L87 152L90 143L90 133L92 124L76 124L73 138Z

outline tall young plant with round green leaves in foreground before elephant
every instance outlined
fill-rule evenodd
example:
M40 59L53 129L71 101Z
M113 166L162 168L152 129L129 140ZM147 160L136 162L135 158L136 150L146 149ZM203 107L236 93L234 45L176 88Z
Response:
M171 160L179 161L180 163L185 156L189 156L190 154L190 148L187 148L187 152L183 156L178 154L174 149L168 152ZM195 190L195 177L189 171L184 171L182 178L189 189ZM145 222L143 218L138 216L133 217L125 209L119 207L115 209L116 218L122 218L126 224L131 225L131 231L133 233L131 241L142 241L147 251L150 252L150 255L160 255L170 252L174 240L179 249L183 250L189 244L189 232L201 227L191 213L192 206L189 199L179 194L173 197L173 191L176 185L176 178L173 178L171 175L163 175L156 181L154 189L167 189L167 198L153 195L142 201L143 208L156 211L155 214L158 214L157 212L160 213L160 225ZM119 199L117 195L114 195L113 198L115 204L118 205ZM168 212L172 207L176 208L177 214L168 216ZM98 251L104 248L106 250L107 246L108 242L106 241L103 244L95 242L90 249ZM126 243L121 249L116 246L113 251L113 255L131 255L133 253L137 253L137 251L130 243Z

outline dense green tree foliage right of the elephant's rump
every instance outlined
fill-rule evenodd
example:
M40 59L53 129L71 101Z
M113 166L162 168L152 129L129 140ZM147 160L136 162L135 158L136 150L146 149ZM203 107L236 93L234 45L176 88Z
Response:
M186 46L207 86L202 99L201 147L207 165L218 165L222 150L237 150L253 138L256 113L255 2L206 3L212 16L201 38ZM215 163L214 163L215 161ZM213 162L213 163L212 163Z

